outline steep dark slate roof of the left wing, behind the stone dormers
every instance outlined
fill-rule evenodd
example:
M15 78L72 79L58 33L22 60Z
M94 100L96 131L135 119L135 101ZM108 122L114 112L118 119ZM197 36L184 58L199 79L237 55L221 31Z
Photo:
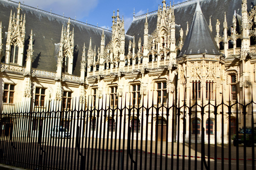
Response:
M2 36L3 38L3 49L5 50L7 31L10 19L11 9L12 12L17 14L18 3L12 1L0 0L0 21L2 21ZM33 29L33 49L34 57L32 67L47 71L57 70L57 61L54 57L54 49L57 44L60 43L62 24L67 27L68 18L60 15L51 14L36 8L29 7L26 5L20 5L21 14L26 14L26 36L25 36L25 58L23 65L26 64L26 54L29 43L30 31ZM74 62L73 62L73 74L80 75L80 61L82 58L83 45L89 47L90 37L92 37L92 48L96 46L96 50L100 47L102 29L97 28L93 25L77 22L71 20L70 30L74 27ZM109 19L111 22L111 16ZM111 31L104 31L106 45L111 40ZM129 37L129 39L131 39ZM129 44L129 41L128 41ZM126 45L128 46L128 45ZM86 55L87 55L86 49ZM5 51L3 53L5 55ZM2 62L4 62L5 56L2 56Z

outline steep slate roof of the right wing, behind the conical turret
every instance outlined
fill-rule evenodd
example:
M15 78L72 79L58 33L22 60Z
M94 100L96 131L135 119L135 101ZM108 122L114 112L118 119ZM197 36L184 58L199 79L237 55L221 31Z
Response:
M233 25L233 15L234 11L236 10L236 13L238 15L242 15L242 0L199 0L201 3L201 9L205 16L207 25L209 25L209 18L211 16L212 21L212 36L216 36L216 21L219 19L220 21L220 36L222 36L222 30L223 30L223 21L224 21L224 12L227 14L227 22L228 26ZM174 15L175 15L175 24L180 25L180 27L184 31L184 37L183 40L186 40L186 29L187 29L187 21L189 23L189 26L191 25L191 22L193 21L193 15L196 9L196 2L195 0L191 0L188 2L180 3L174 5ZM256 5L256 0L247 0L247 7L250 10L251 6ZM130 28L127 30L127 35L135 35L135 42L139 40L141 37L141 40L143 42L143 28L145 23L146 15L141 15L135 17L135 20L130 25ZM240 19L241 16L237 16L237 19ZM148 33L151 35L153 31L156 29L156 23L157 23L157 11L154 11L152 13L149 13L148 15ZM239 20L237 24L239 23ZM237 28L239 30L239 28ZM179 34L179 30L175 29L176 34ZM177 41L179 39L176 39Z

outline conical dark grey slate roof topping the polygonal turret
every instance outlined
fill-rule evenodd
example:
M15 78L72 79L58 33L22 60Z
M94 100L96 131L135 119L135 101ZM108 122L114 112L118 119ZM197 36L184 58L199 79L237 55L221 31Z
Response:
M197 2L194 19L178 57L202 53L220 55L218 46L211 36L211 31L205 21L199 2Z

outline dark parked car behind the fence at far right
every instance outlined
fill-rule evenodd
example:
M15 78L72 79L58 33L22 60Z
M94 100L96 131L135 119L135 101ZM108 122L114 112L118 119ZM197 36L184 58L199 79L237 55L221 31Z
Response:
M245 140L244 140L245 133ZM244 145L251 147L256 143L256 128L254 128L254 140L252 138L252 127L239 128L238 137L236 134L231 138L233 140L233 145L237 146L238 144L244 143Z

